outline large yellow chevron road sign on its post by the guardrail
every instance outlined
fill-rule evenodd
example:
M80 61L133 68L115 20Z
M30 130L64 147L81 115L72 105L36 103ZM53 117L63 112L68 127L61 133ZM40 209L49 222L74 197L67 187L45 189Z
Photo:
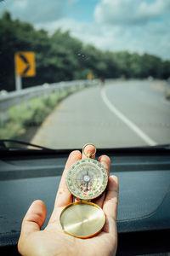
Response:
M22 77L36 75L34 52L17 52L14 55L15 90L22 90Z

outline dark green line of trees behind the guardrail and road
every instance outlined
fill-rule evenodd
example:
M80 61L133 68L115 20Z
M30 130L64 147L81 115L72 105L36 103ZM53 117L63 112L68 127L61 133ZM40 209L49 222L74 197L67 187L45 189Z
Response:
M52 35L36 30L28 22L12 20L8 12L0 18L0 90L14 90L14 53L33 51L37 74L23 78L23 88L65 80L124 77L155 79L170 77L170 61L155 55L139 55L128 51L101 50L83 44L69 31L57 29Z

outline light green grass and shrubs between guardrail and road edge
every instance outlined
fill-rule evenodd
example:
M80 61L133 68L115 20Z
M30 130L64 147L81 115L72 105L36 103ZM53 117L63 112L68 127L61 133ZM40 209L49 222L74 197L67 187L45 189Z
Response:
M44 98L35 97L29 102L23 102L20 106L9 108L8 122L5 124L0 122L0 139L22 139L25 137L26 140L28 137L29 140L30 133L37 130L59 102L77 90L76 87L67 88L59 93L53 92Z

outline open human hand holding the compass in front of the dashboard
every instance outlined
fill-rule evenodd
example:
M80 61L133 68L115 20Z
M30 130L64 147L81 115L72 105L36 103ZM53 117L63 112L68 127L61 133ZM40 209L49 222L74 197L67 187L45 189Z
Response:
M94 147L88 145L87 153L94 153ZM72 202L72 195L67 189L65 175L70 166L77 160L86 158L80 151L72 151L65 164L65 170L59 183L59 189L54 203L54 211L44 230L41 227L45 221L47 210L42 201L34 201L23 219L18 249L22 255L74 255L74 256L110 256L116 254L117 231L116 212L118 201L118 180L116 176L109 177L108 187L103 195L94 203L105 212L105 226L94 237L80 239L65 234L59 224L60 212ZM105 167L108 175L111 160L108 156L99 157L99 162Z

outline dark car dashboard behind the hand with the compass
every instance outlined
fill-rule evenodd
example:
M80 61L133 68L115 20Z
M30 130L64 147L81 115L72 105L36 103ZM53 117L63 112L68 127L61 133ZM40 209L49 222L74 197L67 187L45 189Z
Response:
M20 225L40 199L48 219L71 150L8 150L0 156L0 254L18 255ZM169 148L99 149L119 178L116 255L170 252Z

